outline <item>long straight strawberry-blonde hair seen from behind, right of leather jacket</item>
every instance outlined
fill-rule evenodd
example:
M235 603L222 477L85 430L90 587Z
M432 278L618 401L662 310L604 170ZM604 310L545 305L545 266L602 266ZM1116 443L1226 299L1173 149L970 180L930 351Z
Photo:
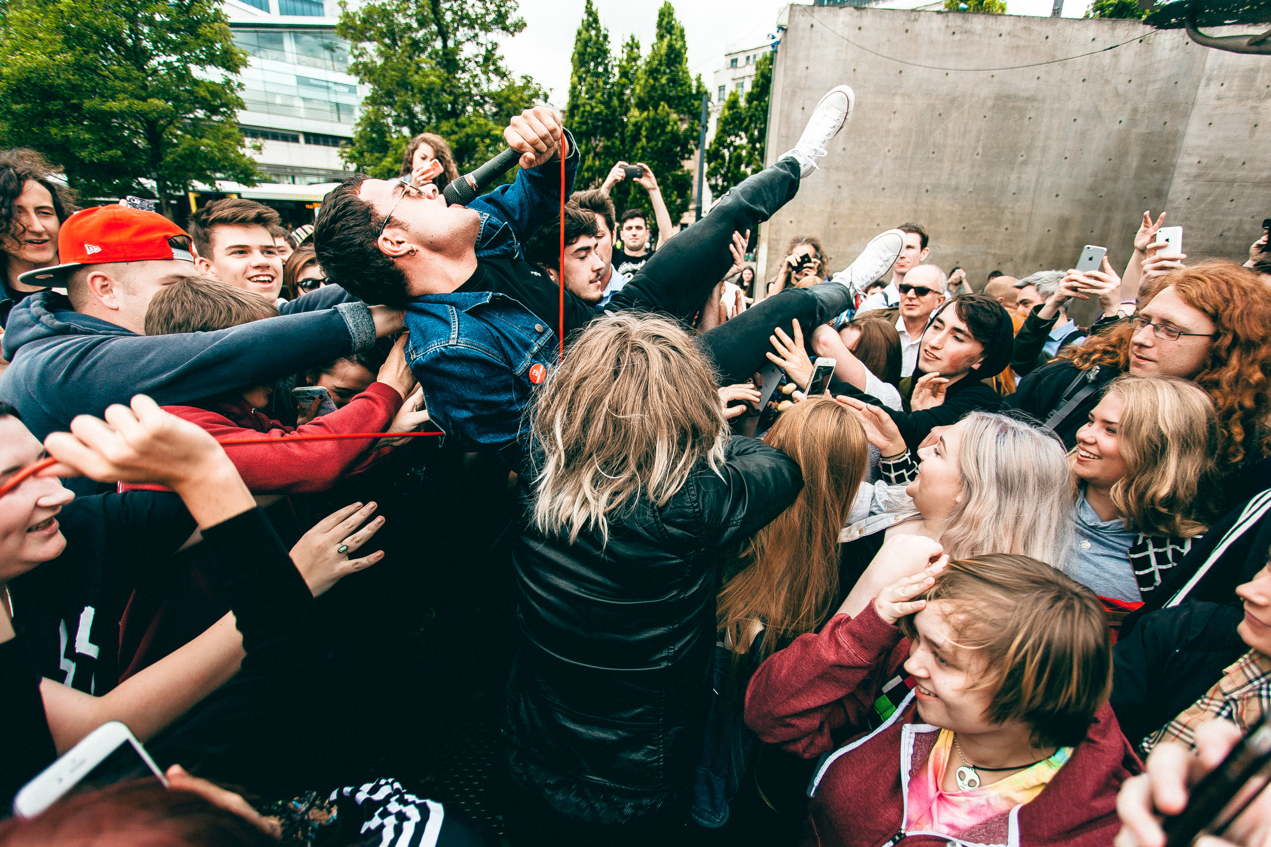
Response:
M820 626L839 593L839 531L864 476L864 427L827 397L794 404L764 438L798 462L803 489L742 549L741 571L719 590L716 620L741 651L751 624L766 627L756 660Z

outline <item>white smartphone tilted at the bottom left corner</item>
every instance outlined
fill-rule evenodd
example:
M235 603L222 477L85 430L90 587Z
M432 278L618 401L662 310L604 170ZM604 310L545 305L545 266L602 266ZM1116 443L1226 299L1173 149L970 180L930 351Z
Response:
M72 789L94 791L123 780L154 776L163 787L168 777L141 747L141 742L117 720L102 724L84 740L22 786L13 799L13 814L34 818Z

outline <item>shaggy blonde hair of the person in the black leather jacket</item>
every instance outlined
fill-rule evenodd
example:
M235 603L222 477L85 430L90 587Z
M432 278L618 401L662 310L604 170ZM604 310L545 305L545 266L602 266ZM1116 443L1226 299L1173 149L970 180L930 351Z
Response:
M728 428L709 359L674 321L619 312L591 321L530 405L534 526L596 530L638 498L662 507L705 462L719 472Z

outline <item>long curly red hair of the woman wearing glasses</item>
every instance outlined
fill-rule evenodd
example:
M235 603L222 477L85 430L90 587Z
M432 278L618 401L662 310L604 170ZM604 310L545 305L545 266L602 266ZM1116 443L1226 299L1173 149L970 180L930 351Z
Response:
M1192 382L1214 400L1218 414L1218 466L1233 470L1246 460L1271 455L1271 288L1258 274L1233 262L1201 262L1157 281L1139 303L1144 309L1173 288L1192 309L1214 321L1214 344ZM1063 353L1083 371L1096 364L1130 370L1130 337L1121 321Z

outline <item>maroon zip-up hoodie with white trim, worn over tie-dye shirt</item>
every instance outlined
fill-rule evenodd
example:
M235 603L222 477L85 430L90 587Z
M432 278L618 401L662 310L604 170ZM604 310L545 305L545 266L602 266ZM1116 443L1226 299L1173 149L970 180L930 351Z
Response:
M836 615L759 665L746 691L746 725L764 742L805 758L838 747L831 730L864 725L880 684L909 655L899 627L873 603L855 618ZM923 767L939 728L924 724L913 693L878 729L839 748L817 770L803 844L1065 844L1103 847L1120 828L1116 794L1143 766L1111 707L1031 803L962 833L905 833L909 780Z

